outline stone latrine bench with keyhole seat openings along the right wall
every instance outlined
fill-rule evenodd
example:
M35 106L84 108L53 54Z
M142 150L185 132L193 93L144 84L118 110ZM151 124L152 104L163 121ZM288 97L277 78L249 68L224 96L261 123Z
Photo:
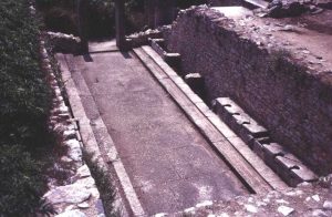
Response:
M269 136L269 131L251 118L229 97L212 102L214 111L232 128L249 147L290 186L313 182L318 176L298 157Z

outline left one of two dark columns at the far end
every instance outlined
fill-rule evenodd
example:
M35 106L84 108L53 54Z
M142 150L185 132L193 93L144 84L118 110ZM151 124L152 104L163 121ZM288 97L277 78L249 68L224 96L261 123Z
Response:
M89 1L87 0L79 0L76 6L76 12L79 14L77 28L79 35L81 39L81 52L89 52L89 41L87 41L87 10Z

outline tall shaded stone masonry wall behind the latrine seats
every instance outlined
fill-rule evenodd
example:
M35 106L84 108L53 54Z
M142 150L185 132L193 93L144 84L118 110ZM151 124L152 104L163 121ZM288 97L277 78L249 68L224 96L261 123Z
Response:
M315 75L291 52L264 48L243 28L198 7L181 11L165 38L181 54L183 71L205 78L209 101L234 99L313 170L331 173L331 72Z

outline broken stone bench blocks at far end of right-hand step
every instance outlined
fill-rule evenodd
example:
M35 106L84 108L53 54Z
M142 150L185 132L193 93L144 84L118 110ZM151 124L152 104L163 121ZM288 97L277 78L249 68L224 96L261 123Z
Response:
M181 55L179 53L170 53L165 46L164 39L148 39L151 46L169 64L174 70L180 72Z

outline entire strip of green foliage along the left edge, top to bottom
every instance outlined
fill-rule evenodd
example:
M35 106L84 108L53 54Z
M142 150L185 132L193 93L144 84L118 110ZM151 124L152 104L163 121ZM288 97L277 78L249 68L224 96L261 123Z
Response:
M40 155L49 144L51 97L29 7L0 1L0 216L34 216L46 188Z

